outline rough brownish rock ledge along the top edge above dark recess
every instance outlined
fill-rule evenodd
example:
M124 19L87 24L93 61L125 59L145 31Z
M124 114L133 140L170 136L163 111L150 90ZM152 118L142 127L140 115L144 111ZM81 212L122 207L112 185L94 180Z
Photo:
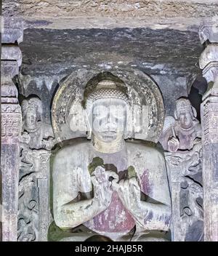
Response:
M40 20L47 20L52 24L44 23L45 27L59 29L145 26L197 28L203 17L208 19L217 15L217 9L216 0L9 0L3 4L6 15L21 15L36 26Z

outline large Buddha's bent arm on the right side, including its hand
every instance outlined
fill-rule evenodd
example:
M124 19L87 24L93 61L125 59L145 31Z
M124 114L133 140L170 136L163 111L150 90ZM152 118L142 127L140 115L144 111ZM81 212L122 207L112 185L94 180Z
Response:
M150 188L153 189L153 199L149 201L141 200L142 189L136 177L132 177L129 180L121 180L118 183L118 194L138 225L148 230L164 231L169 229L171 200L165 160L161 154L158 153L157 156L154 158L156 168L153 167L150 172L151 174L157 172L156 175L150 175L150 177L153 177L150 182Z

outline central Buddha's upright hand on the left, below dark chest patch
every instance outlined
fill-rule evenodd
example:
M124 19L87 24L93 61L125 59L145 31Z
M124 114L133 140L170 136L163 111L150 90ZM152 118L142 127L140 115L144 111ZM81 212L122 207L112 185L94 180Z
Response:
M94 201L97 201L102 210L108 208L113 193L109 177L113 177L113 180L118 180L118 175L115 172L106 172L105 168L101 166L96 167L91 176L94 186Z

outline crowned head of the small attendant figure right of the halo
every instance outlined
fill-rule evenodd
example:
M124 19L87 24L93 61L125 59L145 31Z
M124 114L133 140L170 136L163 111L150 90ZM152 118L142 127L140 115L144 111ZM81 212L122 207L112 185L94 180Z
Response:
M177 100L174 116L182 129L190 129L194 126L197 113L189 100L181 98Z

